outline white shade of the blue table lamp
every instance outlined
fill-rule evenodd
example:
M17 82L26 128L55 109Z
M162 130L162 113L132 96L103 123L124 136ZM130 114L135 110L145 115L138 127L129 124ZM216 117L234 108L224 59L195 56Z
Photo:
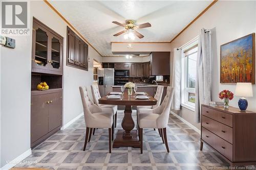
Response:
M237 83L236 92L234 95L242 97L252 97L252 86L251 83Z

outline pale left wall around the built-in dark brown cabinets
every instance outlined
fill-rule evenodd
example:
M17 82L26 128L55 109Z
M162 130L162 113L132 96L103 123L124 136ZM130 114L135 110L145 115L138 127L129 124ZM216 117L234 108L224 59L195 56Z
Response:
M93 83L93 59L100 55L89 46L89 71L66 66L67 24L45 2L31 1L30 23L36 17L64 37L63 125L83 112L79 86ZM16 47L1 45L1 165L30 149L30 84L32 35L9 36ZM17 147L18 143L18 147Z

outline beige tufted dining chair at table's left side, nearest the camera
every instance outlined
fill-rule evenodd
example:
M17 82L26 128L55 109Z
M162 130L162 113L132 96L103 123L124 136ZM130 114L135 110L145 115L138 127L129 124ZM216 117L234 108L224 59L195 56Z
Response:
M102 109L95 105L89 95L87 87L79 87L84 120L86 122L86 139L84 140L83 151L86 150L87 141L90 142L92 130L95 128L109 129L109 152L111 153L111 139L114 138L113 112L111 108ZM89 132L90 131L90 132ZM90 133L90 134L89 134Z

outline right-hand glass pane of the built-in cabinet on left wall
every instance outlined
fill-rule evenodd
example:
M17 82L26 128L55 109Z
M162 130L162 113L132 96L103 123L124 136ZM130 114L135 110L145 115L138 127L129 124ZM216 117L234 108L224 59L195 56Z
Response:
M57 38L52 38L52 49L51 49L51 64L53 68L60 67L60 42Z

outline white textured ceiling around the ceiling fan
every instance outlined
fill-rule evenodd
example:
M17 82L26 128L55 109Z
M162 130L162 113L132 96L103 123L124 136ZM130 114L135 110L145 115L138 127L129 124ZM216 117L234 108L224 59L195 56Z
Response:
M127 41L113 35L124 28L112 21L135 25L150 22L138 30L145 37L138 42L169 42L212 1L49 1L102 56L114 56L111 42Z

